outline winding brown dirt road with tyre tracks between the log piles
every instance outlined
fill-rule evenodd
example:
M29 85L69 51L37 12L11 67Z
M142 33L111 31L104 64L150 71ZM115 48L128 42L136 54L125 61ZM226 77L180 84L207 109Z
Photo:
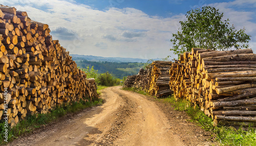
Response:
M102 106L67 116L9 145L209 145L209 135L121 87L101 90ZM167 112L167 113L166 113ZM184 116L184 115L183 115ZM181 116L182 117L182 116ZM198 130L199 129L199 130Z

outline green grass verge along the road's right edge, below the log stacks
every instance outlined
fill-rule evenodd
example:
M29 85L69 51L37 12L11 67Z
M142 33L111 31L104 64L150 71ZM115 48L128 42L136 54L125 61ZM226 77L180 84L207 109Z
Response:
M134 91L137 93L142 93L144 91L139 91L140 89L136 88L123 88L124 90ZM145 94L145 93L143 93ZM243 131L242 127L238 130L233 127L227 126L213 126L213 121L210 117L204 114L198 106L193 106L189 101L178 100L172 96L168 96L164 99L156 99L159 102L169 103L170 106L173 106L175 110L185 111L190 117L190 121L196 123L201 128L206 131L210 131L212 136L219 142L220 145L256 145L256 131L248 130Z

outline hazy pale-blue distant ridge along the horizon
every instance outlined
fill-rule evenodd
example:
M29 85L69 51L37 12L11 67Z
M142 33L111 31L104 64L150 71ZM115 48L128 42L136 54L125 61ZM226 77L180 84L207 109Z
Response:
M148 59L140 59L140 58L121 58L121 57L100 57L100 56L92 56L92 55L77 55L70 54L74 61L77 60L88 60L95 62L138 62L138 63L146 63ZM153 60L161 60L160 58Z

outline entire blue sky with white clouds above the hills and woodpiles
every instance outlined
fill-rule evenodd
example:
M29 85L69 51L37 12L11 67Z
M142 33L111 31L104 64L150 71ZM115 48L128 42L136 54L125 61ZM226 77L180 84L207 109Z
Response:
M0 0L0 4L27 11L32 20L47 23L53 39L70 54L103 57L165 58L172 33L191 9L212 6L224 13L236 29L251 35L256 51L255 0Z

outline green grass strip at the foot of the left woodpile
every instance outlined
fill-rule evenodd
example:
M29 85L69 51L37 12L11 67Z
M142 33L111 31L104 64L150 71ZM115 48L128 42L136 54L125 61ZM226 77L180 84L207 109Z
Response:
M18 136L29 133L36 128L41 127L42 125L46 125L51 123L52 121L58 119L59 117L64 116L67 113L74 113L78 112L84 108L93 107L102 104L102 100L98 99L93 102L84 102L83 100L79 102L73 102L72 104L67 104L66 106L61 105L56 107L51 111L51 113L47 114L38 114L38 116L30 115L27 117L26 120L22 120L17 123L12 129L10 126L8 127L8 141L12 141L13 139L17 138ZM6 144L4 138L4 122L1 121L0 123L0 144Z

